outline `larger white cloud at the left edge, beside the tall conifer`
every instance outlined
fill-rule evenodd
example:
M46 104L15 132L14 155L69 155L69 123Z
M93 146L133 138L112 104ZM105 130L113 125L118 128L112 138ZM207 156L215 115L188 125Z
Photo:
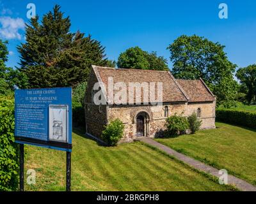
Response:
M19 30L24 30L25 22L22 18L0 17L0 36L11 39L21 39Z

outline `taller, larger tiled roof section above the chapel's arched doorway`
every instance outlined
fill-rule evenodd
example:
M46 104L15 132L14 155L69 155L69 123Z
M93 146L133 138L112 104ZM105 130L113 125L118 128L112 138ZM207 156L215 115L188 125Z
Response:
M163 83L163 102L172 101L188 101L186 93L182 92L182 88L175 81L170 71L154 71L154 70L144 70L144 69L116 69L116 68L105 68L100 66L93 66L98 80L103 82L106 94L108 93L108 79L113 78L113 83L124 82L127 86L127 98L129 91L129 82L147 82L148 87L150 82L155 82L155 99L157 99L157 82ZM115 92L114 91L114 95ZM136 101L134 89L134 103ZM150 94L148 94L150 95ZM128 100L128 99L127 99ZM146 100L146 99L145 99ZM143 101L143 89L141 89L141 101ZM128 102L128 101L127 101ZM161 102L161 101L157 101Z

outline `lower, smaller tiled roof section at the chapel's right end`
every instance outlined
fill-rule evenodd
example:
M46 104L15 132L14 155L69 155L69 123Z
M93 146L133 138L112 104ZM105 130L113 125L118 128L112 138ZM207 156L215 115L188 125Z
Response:
M188 94L189 102L214 101L214 95L209 88L200 80L177 79L182 89Z

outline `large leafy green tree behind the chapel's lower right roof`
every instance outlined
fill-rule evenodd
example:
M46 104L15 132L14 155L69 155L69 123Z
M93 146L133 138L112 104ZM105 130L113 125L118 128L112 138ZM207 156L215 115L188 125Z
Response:
M224 48L204 37L182 35L167 49L176 78L202 78L217 96L217 105L230 107L236 105L237 83L233 77L236 64L228 61Z

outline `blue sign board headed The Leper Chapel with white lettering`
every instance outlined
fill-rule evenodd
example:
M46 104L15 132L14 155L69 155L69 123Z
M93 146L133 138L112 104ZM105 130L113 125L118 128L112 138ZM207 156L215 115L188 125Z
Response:
M15 142L72 149L72 88L15 90Z

